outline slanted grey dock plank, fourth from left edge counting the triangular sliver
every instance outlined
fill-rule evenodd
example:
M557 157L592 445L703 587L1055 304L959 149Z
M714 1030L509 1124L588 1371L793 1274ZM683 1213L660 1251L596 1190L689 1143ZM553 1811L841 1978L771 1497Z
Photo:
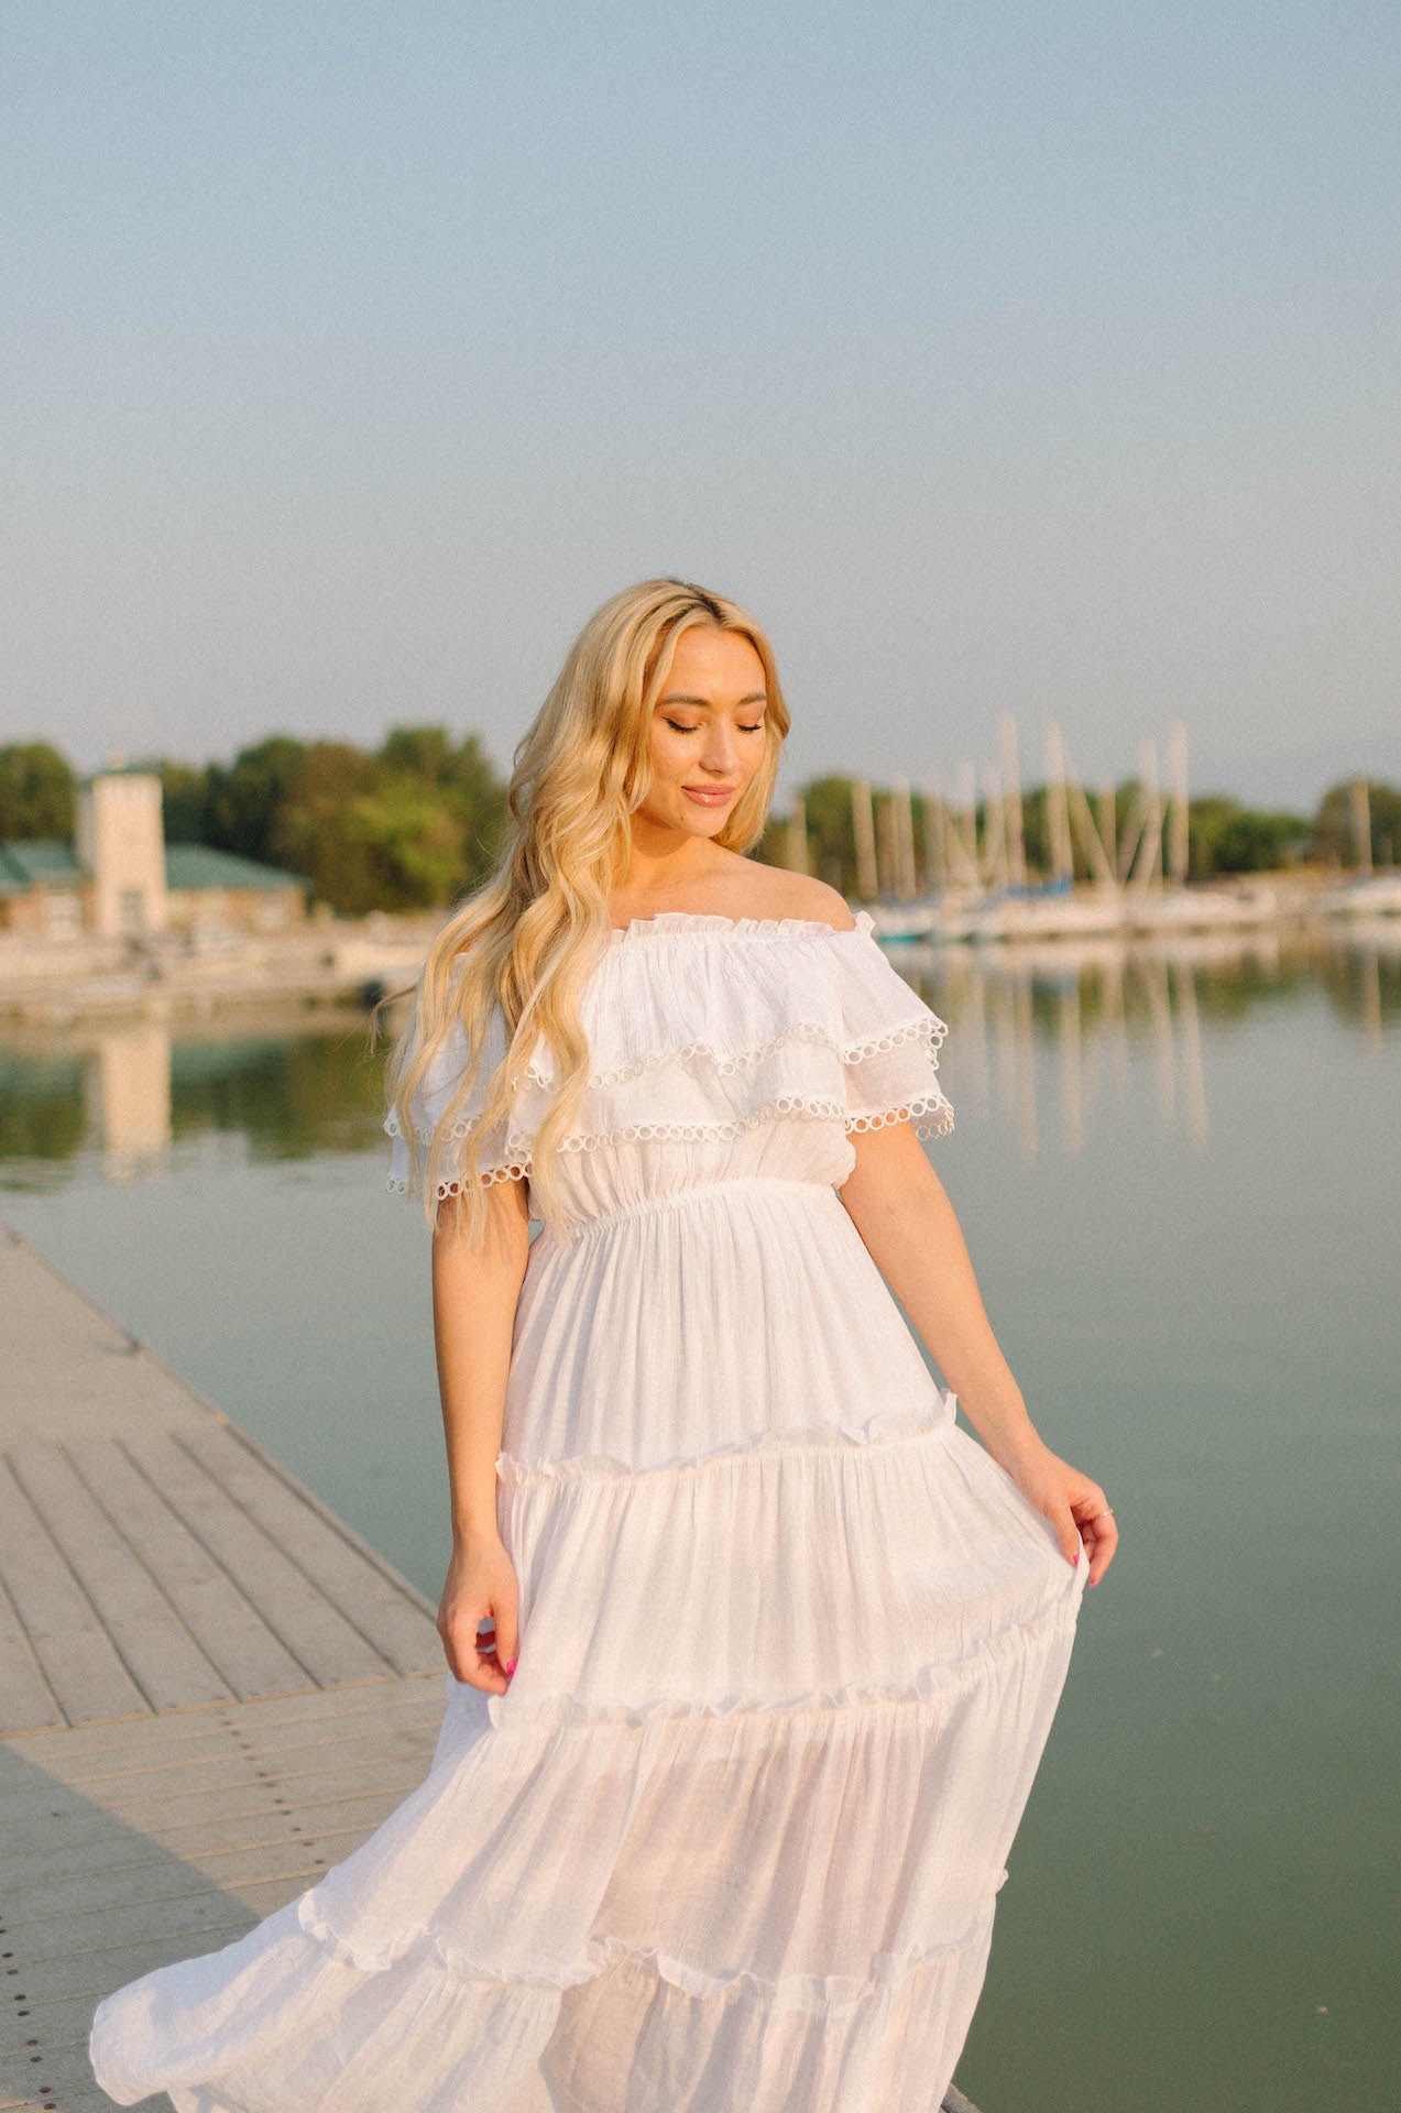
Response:
M120 1443L95 1439L74 1464L97 1502L137 1542L146 1568L232 1695L306 1688L306 1669Z

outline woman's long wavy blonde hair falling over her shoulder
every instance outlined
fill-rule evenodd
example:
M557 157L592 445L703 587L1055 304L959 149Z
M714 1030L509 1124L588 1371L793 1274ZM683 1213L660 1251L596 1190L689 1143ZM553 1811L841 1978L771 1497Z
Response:
M513 1084L541 1035L560 1084L533 1139L530 1196L535 1213L558 1226L554 1160L590 1076L579 995L611 945L609 890L628 875L632 814L651 788L653 708L676 640L699 623L740 632L763 661L769 697L763 763L712 839L731 852L759 841L788 733L773 649L759 623L723 594L685 579L645 579L604 602L568 649L513 752L501 864L452 911L412 987L412 1010L387 1063L387 1097L410 1149L410 1185L423 1179L429 1223L437 1221L444 1158L459 1143L454 1124L478 1090L492 1008L505 1021L505 1059L484 1084L480 1116L461 1139L450 1175L452 1230L473 1247L488 1223L480 1145L507 1120ZM391 993L382 1004L404 995L410 993ZM412 1099L454 1021L467 1037L467 1065L421 1156Z

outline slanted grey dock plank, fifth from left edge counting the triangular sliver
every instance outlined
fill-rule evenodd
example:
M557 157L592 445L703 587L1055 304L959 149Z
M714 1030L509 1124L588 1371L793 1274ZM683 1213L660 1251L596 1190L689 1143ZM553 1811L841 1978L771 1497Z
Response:
M309 1680L334 1686L393 1671L292 1557L224 1496L173 1433L133 1431L125 1443L171 1511L222 1564Z

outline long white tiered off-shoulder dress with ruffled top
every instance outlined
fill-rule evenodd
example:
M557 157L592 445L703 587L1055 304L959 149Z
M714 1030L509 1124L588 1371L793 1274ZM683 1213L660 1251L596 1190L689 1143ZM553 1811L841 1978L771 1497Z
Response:
M120 2105L934 2113L953 2077L1088 1564L837 1194L852 1133L951 1128L945 1025L866 913L638 919L581 1012L497 1462L520 1669L448 1673L359 1849L97 2007ZM425 1133L461 1067L459 1031ZM541 1044L484 1164L528 1175L552 1090Z

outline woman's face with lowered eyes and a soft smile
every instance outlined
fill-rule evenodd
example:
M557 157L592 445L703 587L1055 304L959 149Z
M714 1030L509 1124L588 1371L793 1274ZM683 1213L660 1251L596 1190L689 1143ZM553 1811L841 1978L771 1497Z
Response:
M714 837L765 759L763 661L740 632L693 623L653 708L653 784L638 814Z

